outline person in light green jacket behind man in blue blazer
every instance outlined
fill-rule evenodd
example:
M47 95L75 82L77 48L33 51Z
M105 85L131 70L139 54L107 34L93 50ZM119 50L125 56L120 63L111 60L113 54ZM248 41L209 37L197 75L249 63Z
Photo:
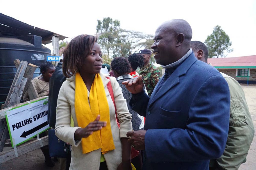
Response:
M198 60L207 63L208 50L204 43L191 41L190 47ZM230 119L228 139L224 153L216 160L210 160L210 170L237 170L246 162L246 156L254 136L251 114L240 84L232 77L221 73L230 91Z

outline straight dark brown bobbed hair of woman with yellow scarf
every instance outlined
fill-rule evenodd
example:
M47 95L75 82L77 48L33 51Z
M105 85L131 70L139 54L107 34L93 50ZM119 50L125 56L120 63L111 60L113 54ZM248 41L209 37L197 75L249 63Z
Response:
M74 37L63 51L62 70L66 77L71 77L83 64L83 59L90 54L97 37L81 34Z

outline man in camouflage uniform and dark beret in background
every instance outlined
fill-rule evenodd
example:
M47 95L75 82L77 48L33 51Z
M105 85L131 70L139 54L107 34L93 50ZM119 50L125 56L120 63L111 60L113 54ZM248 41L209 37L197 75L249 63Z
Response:
M150 62L152 54L151 50L140 50L139 54L144 57L144 67L142 68L140 75L142 75L143 83L146 86L148 96L151 96L153 89L160 79L160 71Z

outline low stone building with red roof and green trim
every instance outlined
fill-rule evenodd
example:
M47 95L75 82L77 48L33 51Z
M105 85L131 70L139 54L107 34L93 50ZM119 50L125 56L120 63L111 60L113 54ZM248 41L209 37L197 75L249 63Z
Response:
M256 84L256 55L229 58L208 58L208 63L239 83Z

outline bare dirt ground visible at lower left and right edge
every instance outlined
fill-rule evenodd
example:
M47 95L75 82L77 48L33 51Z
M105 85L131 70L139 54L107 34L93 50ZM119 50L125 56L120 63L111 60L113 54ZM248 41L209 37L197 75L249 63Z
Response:
M246 100L252 116L254 128L256 129L256 85L241 84L246 95ZM256 136L256 133L254 134ZM253 170L256 169L256 137L254 136L248 156L247 162L242 164L239 170ZM54 167L47 167L45 165L44 155L40 149L34 150L27 154L21 155L18 158L9 160L0 164L0 169L27 169L27 170L57 170L59 169L59 162L56 162Z

